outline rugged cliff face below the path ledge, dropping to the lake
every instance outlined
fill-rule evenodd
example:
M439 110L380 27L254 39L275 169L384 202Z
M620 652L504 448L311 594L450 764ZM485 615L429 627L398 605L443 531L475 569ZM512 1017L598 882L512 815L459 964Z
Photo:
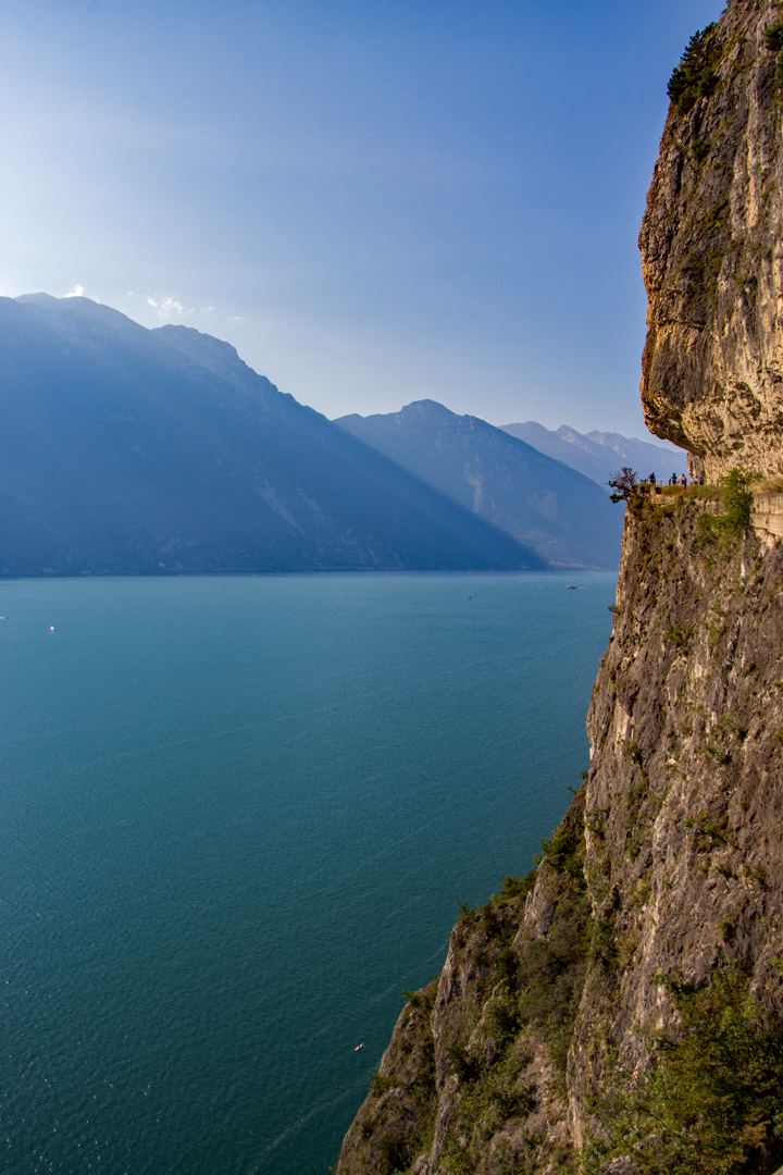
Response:
M588 779L538 870L454 927L338 1175L566 1170L593 1097L675 1016L664 978L734 961L783 1009L783 546L710 542L720 509L628 510Z

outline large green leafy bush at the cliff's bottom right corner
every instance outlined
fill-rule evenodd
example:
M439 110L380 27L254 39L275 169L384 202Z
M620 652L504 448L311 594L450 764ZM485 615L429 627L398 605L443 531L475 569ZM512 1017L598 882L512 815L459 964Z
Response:
M735 967L695 992L670 985L681 1028L650 1040L643 1076L616 1070L586 1175L633 1154L640 1175L743 1175L783 1160L783 1032Z

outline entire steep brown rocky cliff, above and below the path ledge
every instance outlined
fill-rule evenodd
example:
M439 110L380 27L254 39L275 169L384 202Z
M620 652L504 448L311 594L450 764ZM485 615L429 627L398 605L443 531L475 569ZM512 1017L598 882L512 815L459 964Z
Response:
M642 231L648 419L714 479L783 462L782 18L743 0L691 42ZM776 490L632 497L589 771L538 867L463 913L338 1175L783 1162Z

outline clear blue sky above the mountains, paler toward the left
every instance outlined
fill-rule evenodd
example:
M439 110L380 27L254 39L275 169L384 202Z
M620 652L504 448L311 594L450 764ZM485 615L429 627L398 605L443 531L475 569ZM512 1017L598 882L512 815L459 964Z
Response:
M650 439L636 239L713 0L0 0L0 291L336 417Z

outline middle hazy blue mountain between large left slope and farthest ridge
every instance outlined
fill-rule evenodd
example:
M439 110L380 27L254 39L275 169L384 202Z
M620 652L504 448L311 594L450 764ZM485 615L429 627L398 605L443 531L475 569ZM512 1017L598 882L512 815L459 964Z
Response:
M616 568L622 513L581 472L477 416L420 400L335 422L563 568Z

